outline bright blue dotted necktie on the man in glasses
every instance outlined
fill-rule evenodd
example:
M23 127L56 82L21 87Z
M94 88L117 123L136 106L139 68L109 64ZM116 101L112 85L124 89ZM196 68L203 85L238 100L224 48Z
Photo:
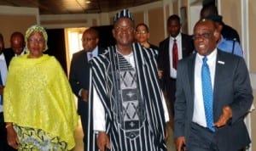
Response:
M207 119L207 127L211 131L215 131L213 127L213 91L209 66L207 64L207 57L203 58L201 67L201 85L204 100L205 114Z

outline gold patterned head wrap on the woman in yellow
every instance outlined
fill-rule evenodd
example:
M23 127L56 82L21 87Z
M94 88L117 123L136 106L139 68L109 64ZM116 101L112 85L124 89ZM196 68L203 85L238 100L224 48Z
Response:
M40 32L43 34L44 36L44 51L48 49L48 46L47 46L47 40L48 40L48 35L47 35L47 32L44 30L44 27L41 26L41 25L32 25L31 27L29 27L27 30L26 30L26 36L25 36L25 42L26 42L26 52L28 52L28 49L27 49L27 40L28 40L28 37L33 33L33 32Z

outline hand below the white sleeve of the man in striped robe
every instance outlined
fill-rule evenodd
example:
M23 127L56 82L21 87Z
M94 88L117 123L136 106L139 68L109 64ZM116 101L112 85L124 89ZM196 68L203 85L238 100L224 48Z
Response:
M100 151L105 151L106 148L110 149L110 141L106 132L100 131L98 133L97 147L100 149Z

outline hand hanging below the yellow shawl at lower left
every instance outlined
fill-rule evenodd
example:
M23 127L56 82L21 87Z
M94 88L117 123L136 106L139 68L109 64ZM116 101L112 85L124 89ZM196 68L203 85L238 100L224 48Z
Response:
M17 137L17 133L14 127L12 126L12 124L7 124L6 129L7 129L7 141L9 146L11 146L12 148L18 149L19 139Z

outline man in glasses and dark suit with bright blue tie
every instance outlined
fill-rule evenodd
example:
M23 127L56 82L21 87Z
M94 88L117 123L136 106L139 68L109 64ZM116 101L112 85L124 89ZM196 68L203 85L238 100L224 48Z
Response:
M218 50L219 36L212 20L199 20L194 28L197 53L178 63L178 151L183 145L189 151L238 151L251 143L243 120L253 103L247 66L241 57Z

